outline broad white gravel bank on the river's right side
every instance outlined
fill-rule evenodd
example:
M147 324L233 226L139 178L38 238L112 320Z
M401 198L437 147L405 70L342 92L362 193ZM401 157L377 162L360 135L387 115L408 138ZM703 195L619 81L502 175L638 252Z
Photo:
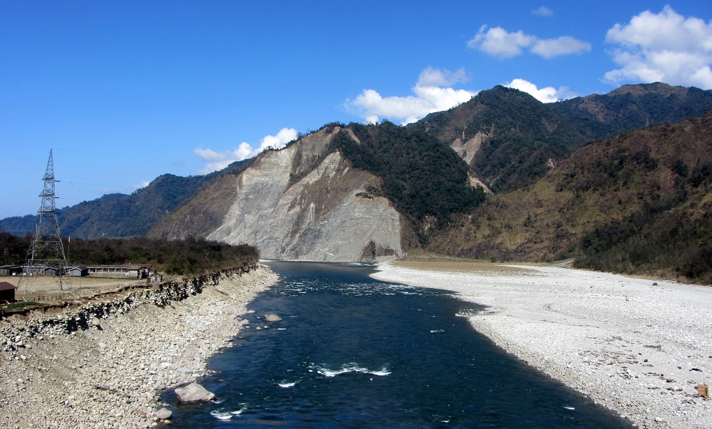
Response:
M640 428L712 428L712 400L696 394L712 384L712 287L518 268L387 263L373 277L488 306L469 317L476 330Z

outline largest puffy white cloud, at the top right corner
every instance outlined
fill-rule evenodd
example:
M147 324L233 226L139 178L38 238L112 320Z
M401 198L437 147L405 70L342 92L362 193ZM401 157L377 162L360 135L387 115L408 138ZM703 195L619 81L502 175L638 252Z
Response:
M606 33L621 68L605 73L610 83L664 82L712 89L712 21L685 18L670 6L644 11Z

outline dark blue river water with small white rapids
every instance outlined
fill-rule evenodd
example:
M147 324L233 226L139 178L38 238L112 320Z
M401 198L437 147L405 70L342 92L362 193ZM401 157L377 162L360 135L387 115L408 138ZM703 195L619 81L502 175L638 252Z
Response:
M172 428L631 427L475 332L456 315L473 304L365 266L269 265L283 280L201 381L219 403L174 406Z

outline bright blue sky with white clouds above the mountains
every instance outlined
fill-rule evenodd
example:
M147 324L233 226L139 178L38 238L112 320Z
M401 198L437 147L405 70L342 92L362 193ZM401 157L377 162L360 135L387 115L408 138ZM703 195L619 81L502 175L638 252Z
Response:
M709 0L0 0L0 218L36 213L50 150L62 208L496 85L712 89L711 65Z

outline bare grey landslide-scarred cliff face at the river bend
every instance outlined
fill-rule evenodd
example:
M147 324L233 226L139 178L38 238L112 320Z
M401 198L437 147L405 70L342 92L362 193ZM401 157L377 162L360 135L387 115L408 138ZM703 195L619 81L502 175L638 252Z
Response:
M402 218L366 187L379 178L350 168L322 129L279 151L261 154L239 175L226 175L164 221L154 235L195 231L209 240L250 243L262 258L356 261L402 254ZM354 137L355 138L355 137ZM231 182L231 186L229 186ZM216 192L219 191L219 192ZM206 206L211 224L202 224ZM218 216L219 215L219 216Z

